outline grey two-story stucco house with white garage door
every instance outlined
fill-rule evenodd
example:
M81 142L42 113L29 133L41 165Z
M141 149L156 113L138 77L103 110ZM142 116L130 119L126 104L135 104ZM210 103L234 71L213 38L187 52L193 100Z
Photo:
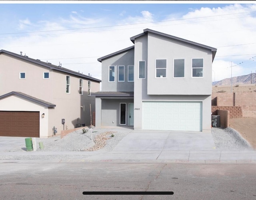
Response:
M149 29L130 40L98 59L96 127L210 131L216 49Z

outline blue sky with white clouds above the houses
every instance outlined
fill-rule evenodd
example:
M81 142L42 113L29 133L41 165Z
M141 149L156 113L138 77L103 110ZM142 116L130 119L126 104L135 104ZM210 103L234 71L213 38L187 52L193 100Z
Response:
M146 28L217 48L212 81L256 72L254 2L7 1L0 19L0 50L98 79L97 59L132 46L130 38Z

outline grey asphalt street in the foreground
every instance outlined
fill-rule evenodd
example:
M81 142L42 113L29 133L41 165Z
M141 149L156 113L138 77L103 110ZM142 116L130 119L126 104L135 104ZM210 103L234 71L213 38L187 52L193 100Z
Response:
M0 163L0 199L256 199L255 164L124 162ZM83 192L173 192L84 195Z

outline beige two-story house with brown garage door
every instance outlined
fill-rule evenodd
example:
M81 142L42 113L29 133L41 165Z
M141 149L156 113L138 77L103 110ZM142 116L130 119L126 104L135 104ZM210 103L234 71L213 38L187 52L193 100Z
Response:
M100 90L100 82L0 50L0 136L51 137L64 129L91 125L95 111L91 93Z

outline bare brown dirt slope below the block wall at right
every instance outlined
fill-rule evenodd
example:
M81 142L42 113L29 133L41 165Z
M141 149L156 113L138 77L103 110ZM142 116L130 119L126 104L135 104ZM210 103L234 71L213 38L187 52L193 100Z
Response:
M229 120L230 127L240 133L240 135L256 149L256 118L242 117Z

